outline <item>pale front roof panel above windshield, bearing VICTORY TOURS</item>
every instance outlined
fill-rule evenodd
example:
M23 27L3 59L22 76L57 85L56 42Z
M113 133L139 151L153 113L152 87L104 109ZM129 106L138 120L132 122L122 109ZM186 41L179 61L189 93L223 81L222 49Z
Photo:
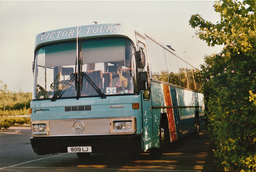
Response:
M76 26L71 28L62 28L58 30L52 30L43 32L36 36L35 49L43 44L49 44L53 42L60 42L64 40L76 40L79 38L92 38L100 36L127 36L132 40L134 37L134 27L127 24L94 24L86 26Z

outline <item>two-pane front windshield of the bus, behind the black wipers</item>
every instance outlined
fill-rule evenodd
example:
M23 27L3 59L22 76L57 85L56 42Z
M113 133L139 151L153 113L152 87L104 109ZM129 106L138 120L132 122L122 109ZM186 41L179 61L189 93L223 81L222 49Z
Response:
M135 63L132 42L121 38L45 46L36 52L33 99L136 94Z

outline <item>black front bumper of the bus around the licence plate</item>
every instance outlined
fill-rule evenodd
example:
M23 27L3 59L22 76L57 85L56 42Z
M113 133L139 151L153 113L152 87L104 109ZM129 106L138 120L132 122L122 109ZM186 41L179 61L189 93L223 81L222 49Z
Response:
M30 138L38 155L68 152L72 146L92 146L92 153L142 150L142 134L101 136L46 136Z

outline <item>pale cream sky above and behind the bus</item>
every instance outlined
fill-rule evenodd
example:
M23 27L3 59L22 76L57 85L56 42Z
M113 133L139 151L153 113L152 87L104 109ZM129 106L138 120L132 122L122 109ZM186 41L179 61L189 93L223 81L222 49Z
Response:
M37 34L94 24L129 23L140 26L176 54L199 67L204 55L220 52L208 47L189 26L190 16L220 20L214 1L4 1L0 0L0 80L8 90L33 90L32 62Z

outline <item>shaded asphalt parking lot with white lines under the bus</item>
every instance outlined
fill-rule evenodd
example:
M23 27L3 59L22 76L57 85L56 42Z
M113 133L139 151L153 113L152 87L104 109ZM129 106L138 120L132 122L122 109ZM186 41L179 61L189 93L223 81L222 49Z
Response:
M136 158L128 154L92 154L83 160L74 153L36 155L30 144L30 127L14 126L0 130L0 172L212 172L214 156L209 133L202 130L199 138L177 140L162 158L153 159L149 152Z

